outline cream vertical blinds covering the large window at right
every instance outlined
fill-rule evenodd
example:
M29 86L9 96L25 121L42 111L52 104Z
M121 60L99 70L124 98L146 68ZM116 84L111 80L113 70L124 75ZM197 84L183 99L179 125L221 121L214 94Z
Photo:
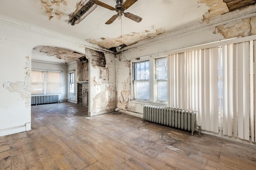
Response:
M198 112L203 130L255 141L254 41L168 55L169 106Z

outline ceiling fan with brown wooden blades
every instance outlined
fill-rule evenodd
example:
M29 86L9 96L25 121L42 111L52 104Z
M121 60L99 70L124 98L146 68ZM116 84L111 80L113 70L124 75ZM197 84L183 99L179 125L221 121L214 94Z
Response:
M106 24L110 24L112 23L114 20L116 20L116 18L121 19L121 16L124 14L125 17L134 20L136 22L140 22L142 20L142 18L140 18L139 16L136 16L134 14L131 14L129 12L124 13L124 10L128 9L130 6L132 6L135 2L137 2L138 0L126 0L123 4L123 0L116 0L116 6L115 8L112 6L109 6L108 4L105 4L99 0L91 0L94 4L97 4L99 6L102 6L104 8L107 8L109 10L115 10L117 12L116 15L112 16L107 22Z

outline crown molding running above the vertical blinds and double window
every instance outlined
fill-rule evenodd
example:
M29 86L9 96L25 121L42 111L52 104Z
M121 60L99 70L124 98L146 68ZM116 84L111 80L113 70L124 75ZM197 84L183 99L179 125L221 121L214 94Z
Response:
M129 45L127 47L124 47L123 49L120 49L120 51L118 51L118 53L128 52L128 51L131 51L138 47L143 48L148 45L154 45L154 44L160 43L162 41L168 41L170 39L183 37L185 35L190 35L190 34L193 34L196 32L203 31L205 29L215 28L216 26L219 26L219 25L224 25L227 23L240 21L245 18L250 18L253 16L256 16L256 5L249 6L247 8L243 8L241 10L234 10L232 12L228 12L228 13L225 13L222 15L212 17L212 18L210 18L209 23L207 23L206 21L202 21L202 22L198 21L196 23L192 23L185 27L178 28L178 29L175 29L172 31L168 31L168 32L160 34L152 39L146 39L146 40L140 41L138 43Z

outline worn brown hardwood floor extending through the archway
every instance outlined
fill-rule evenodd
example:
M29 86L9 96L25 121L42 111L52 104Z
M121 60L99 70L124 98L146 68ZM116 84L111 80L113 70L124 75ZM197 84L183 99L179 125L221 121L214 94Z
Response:
M31 108L33 130L0 137L0 170L256 169L256 145L117 112L87 117L72 103Z

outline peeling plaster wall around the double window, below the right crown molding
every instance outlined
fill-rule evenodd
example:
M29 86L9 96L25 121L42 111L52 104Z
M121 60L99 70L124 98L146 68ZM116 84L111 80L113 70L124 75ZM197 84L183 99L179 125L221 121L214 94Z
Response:
M252 7L249 8L251 9ZM246 9L244 9L244 12L245 11ZM129 69L129 64L127 64L130 61L137 58L146 59L152 55L161 54L166 51L193 47L196 45L216 42L223 39L255 35L256 14L248 18L243 16L245 19L236 19L235 21L234 17L231 17L232 21L227 20L229 15L232 16L232 14L223 14L223 18L225 20L224 25L211 25L211 21L214 20L209 20L210 22L205 23L205 27L200 30L195 29L194 31L186 34L184 34L184 31L186 31L184 29L176 30L175 35L170 33L170 35L174 35L174 37L165 39L164 41L156 41L155 43L141 45L134 49L122 51L119 54L120 56L118 55L116 59L116 110L126 111L125 113L138 113L137 116L140 117L143 113L144 104L154 104L161 106L157 103L148 103L145 101L136 101L132 99L132 91L129 93L128 89L128 86L131 86L133 83L132 78L130 78L132 66L130 66ZM249 13L248 15L252 14ZM218 20L221 22L222 18L218 18ZM130 90L132 90L132 87Z

